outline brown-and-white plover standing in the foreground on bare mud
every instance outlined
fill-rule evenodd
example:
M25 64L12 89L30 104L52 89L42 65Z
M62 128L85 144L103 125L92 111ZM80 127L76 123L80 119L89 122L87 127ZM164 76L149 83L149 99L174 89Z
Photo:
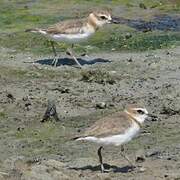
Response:
M147 119L152 119L145 108L137 105L128 106L124 112L117 112L111 116L104 117L89 127L82 136L74 138L76 141L89 141L100 144L98 149L101 171L108 171L104 168L101 150L103 145L122 146L131 141L140 131L142 124ZM128 157L121 152L121 155L132 165Z

